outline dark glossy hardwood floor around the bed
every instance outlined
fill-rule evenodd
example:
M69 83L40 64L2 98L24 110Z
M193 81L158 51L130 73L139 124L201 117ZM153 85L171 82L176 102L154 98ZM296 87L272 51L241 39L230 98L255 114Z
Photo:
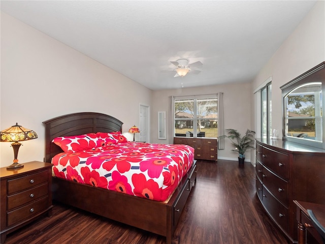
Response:
M173 243L288 243L258 202L255 168L249 163L198 160L197 184L174 233ZM111 204L111 203L103 203ZM166 243L163 236L57 202L44 217L7 235L7 244ZM123 207L123 206L121 206Z

